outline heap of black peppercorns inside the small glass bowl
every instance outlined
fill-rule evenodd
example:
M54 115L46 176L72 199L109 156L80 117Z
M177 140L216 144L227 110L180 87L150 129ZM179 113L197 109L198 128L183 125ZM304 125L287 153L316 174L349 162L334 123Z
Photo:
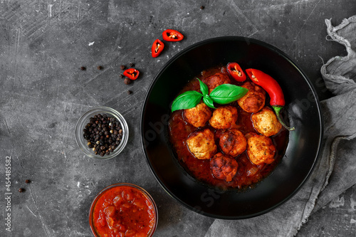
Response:
M122 140L122 127L115 117L94 115L83 130L83 137L94 154L104 156L114 152Z

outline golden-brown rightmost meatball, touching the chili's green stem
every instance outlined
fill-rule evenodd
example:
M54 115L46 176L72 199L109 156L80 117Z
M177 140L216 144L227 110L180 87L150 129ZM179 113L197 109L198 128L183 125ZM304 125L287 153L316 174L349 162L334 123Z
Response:
M266 137L276 135L282 128L281 122L278 122L276 114L270 107L263 107L261 111L253 113L251 120L257 132Z

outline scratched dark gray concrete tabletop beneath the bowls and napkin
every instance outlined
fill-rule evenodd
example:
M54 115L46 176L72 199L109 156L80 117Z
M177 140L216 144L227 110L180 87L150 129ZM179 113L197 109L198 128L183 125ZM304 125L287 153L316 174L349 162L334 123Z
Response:
M204 236L214 219L166 194L142 152L142 102L159 68L206 38L257 38L293 58L323 100L330 93L320 66L345 55L326 39L324 20L336 25L355 10L353 0L0 1L0 236L91 236L90 203L117 182L152 194L159 209L155 236ZM152 58L152 42L167 28L181 31L184 41L167 43ZM120 65L129 63L142 75L125 85ZM106 161L85 157L74 136L80 115L100 105L121 112L130 127L125 150ZM11 232L4 220L6 157L11 157ZM298 236L355 236L355 187L342 195L348 201L313 214Z

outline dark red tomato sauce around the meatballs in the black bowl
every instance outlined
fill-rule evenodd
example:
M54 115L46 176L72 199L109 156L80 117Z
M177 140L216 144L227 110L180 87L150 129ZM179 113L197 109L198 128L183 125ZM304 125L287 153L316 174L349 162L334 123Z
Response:
M216 67L211 68L209 70L204 70L197 78L202 80L203 78L206 78L209 75L213 75L219 72L226 73L226 75L229 75L226 72L226 68ZM231 83L235 85L243 84L236 82L233 78L231 78ZM196 79L191 80L189 83L187 83L187 85L180 93L184 93L187 90L199 91L199 81ZM266 105L268 105L268 102L269 98L267 96ZM216 107L221 106L217 104L215 105ZM256 132L256 130L253 128L253 123L251 121L251 113L242 110L241 107L239 107L239 105L237 104L237 102L231 102L229 105L234 106L238 109L239 116L236 122L236 128L240 130L244 135L248 132ZM281 161L284 153L286 152L286 147L288 144L288 131L282 129L280 132L278 132L277 135L271 137L273 144L275 144L276 146L276 157L273 163L261 165L253 164L248 159L246 151L242 154L239 154L239 156L234 157L234 159L236 159L236 161L238 162L239 167L232 181L227 182L225 180L216 179L211 174L209 159L197 159L191 152L189 152L189 148L187 147L187 137L190 135L190 133L197 130L204 130L206 128L209 128L212 132L214 132L215 143L218 147L218 152L221 152L221 149L219 148L219 137L225 130L216 130L214 127L211 127L209 125L209 122L206 123L205 127L194 127L193 125L190 125L184 120L183 110L177 110L172 112L172 115L169 120L170 142L172 143L174 151L177 154L179 164L184 167L188 174L190 174L195 179L198 179L199 181L203 182L204 184L208 184L211 186L219 186L222 189L244 189L246 187L252 187L253 184L256 184L264 177L267 177L268 174L271 174L276 165Z

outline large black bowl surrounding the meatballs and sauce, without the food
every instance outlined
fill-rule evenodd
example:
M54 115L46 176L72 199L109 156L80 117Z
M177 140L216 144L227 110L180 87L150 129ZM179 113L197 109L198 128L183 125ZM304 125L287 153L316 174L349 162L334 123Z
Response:
M179 165L169 144L167 121L172 101L189 80L201 70L234 61L278 80L295 131L289 133L285 157L266 179L246 191L221 191L201 184ZM193 211L226 219L265 214L290 199L312 172L322 133L318 97L300 68L267 43L233 36L196 43L169 60L148 90L141 118L142 146L163 189Z

